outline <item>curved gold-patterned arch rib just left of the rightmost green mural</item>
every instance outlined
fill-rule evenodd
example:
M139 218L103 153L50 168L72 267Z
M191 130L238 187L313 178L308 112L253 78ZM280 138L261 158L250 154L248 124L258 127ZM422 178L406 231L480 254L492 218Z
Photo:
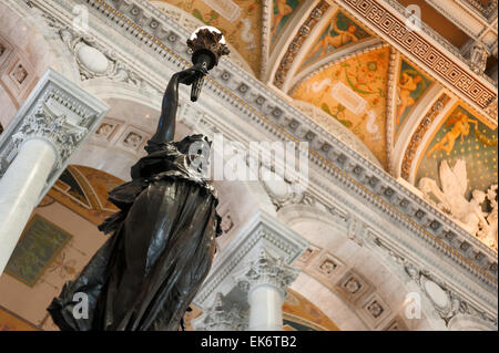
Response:
M413 134L410 138L409 145L407 146L406 153L404 155L404 160L401 164L401 177L409 181L410 176L410 167L413 166L414 156L419 148L419 144L422 141L422 137L427 133L434 120L438 116L441 110L449 103L450 97L447 94L442 94L431 106L428 113L419 123L416 132Z

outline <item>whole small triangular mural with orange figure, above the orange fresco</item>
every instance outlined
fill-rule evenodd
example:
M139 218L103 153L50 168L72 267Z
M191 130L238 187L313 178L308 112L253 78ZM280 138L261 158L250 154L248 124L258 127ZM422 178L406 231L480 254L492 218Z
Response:
M301 70L330 54L337 49L371 35L343 12L336 12L305 56Z

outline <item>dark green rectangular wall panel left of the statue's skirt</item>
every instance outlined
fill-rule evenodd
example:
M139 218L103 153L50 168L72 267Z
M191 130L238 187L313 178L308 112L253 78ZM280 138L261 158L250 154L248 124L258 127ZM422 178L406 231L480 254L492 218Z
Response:
M33 287L71 237L54 224L34 215L24 228L6 273Z

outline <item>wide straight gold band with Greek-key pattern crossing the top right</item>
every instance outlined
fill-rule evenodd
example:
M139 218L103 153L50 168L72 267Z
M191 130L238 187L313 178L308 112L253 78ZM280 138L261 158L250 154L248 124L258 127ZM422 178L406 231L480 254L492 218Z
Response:
M369 29L389 40L395 48L418 62L426 71L432 72L432 75L439 77L446 86L477 107L486 110L497 97L497 92L470 74L469 70L456 63L438 46L417 32L409 31L406 24L379 1L336 0L336 2L347 12L360 18Z

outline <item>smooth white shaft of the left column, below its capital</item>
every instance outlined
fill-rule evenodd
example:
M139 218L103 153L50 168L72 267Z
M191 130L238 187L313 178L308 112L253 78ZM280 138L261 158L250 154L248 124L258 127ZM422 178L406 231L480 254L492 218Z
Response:
M28 139L0 178L0 276L55 163L45 139Z

